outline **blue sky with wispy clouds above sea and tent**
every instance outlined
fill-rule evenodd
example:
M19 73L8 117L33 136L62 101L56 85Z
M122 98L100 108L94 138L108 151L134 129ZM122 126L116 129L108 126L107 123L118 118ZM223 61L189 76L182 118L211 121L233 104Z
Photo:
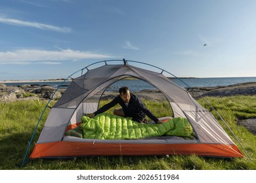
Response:
M254 0L1 0L0 80L67 78L123 58L178 77L256 76L255 8Z

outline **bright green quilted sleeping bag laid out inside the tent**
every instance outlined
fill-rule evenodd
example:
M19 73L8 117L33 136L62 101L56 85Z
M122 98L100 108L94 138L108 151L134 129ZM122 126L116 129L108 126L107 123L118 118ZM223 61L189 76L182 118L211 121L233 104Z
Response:
M82 117L84 139L142 139L162 135L190 137L192 126L186 118L173 118L163 124L140 124L113 114L98 114L94 118Z

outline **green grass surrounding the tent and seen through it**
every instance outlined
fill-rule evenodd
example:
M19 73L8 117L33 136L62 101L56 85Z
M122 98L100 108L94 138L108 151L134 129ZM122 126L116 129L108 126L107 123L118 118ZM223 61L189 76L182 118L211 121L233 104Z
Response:
M250 133L245 127L237 124L238 119L256 118L256 96L235 96L235 97L207 97L213 107L221 114L230 129L239 138L242 146L251 157L247 158L204 158L199 156L100 156L83 157L72 159L35 159L24 166L16 166L22 163L28 142L41 112L47 101L29 100L16 101L12 103L0 103L0 169L111 169L111 170L166 170L166 169L200 169L200 170L249 170L256 169L256 136ZM102 101L104 105L107 101ZM169 116L171 112L168 103L144 101L145 105L157 117ZM207 103L199 100L205 108ZM39 124L33 144L37 141L43 124L47 118L47 108L41 123ZM112 112L109 110L108 112ZM167 113L166 113L167 112ZM219 116L211 111L219 120ZM219 120L225 131L242 150L240 145L228 131L223 122ZM32 147L33 148L33 147ZM32 151L32 148L30 152Z

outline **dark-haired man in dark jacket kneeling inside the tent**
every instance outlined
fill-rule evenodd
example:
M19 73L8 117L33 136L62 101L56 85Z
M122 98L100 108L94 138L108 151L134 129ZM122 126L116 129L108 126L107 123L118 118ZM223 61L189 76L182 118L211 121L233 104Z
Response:
M114 114L121 117L132 118L133 121L143 123L146 122L145 118L148 116L151 120L153 120L156 124L160 124L160 120L148 110L140 99L129 92L127 86L119 88L119 95L115 97L110 103L104 105L99 108L96 112L92 114L88 114L90 118L93 118L97 114L105 112L106 110L114 107L115 105L121 105L121 108L115 108Z

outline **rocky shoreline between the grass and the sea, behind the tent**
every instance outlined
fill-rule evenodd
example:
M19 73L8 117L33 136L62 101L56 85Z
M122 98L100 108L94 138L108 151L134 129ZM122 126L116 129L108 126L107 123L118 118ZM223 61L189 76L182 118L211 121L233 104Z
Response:
M0 102L16 101L24 99L51 99L56 88L40 84L24 84L22 86L6 86L0 84ZM59 99L66 89L59 89L53 99ZM215 87L194 87L187 88L188 92L197 98L200 95L224 97L232 95L256 95L256 82L247 82L242 84L232 84L230 86L215 86ZM141 99L151 101L163 101L164 95L158 90L142 90L134 92ZM116 92L105 92L103 99L112 99Z

